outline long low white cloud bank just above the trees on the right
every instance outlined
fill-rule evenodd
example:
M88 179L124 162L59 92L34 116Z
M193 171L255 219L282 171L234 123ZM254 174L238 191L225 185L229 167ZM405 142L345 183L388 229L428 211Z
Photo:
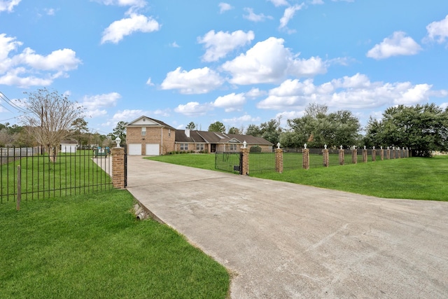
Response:
M432 85L409 82L371 82L367 76L356 74L334 79L321 85L306 81L286 80L258 103L260 109L304 109L310 102L325 103L341 109L373 109L396 104L414 105L428 102L430 97L444 97L446 91L435 92Z

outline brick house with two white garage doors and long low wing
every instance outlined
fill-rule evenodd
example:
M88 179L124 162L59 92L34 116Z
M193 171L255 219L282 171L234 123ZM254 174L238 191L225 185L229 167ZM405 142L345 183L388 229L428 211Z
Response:
M160 120L147 116L141 116L126 126L126 146L129 155L165 155L172 151L236 152L244 141L248 148L260 146L263 152L272 152L272 144L261 137L188 129L176 130Z

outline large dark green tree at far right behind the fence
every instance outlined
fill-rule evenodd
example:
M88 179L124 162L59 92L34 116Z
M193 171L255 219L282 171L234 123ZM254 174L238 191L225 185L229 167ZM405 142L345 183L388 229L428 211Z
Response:
M379 146L408 147L412 155L430 156L448 150L448 109L435 104L394 106L386 109L381 121L367 125L366 137Z

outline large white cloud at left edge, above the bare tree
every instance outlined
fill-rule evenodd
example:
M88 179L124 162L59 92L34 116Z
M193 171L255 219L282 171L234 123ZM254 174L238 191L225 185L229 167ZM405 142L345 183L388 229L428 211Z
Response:
M31 48L18 51L22 42L0 34L0 84L27 88L33 85L47 86L55 78L67 77L68 71L77 69L81 60L71 49L52 51L49 55L36 54Z

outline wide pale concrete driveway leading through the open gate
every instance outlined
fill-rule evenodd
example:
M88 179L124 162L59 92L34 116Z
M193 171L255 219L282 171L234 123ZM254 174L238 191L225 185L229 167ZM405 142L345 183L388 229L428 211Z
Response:
M141 204L235 273L232 298L448 298L448 202L128 167Z

